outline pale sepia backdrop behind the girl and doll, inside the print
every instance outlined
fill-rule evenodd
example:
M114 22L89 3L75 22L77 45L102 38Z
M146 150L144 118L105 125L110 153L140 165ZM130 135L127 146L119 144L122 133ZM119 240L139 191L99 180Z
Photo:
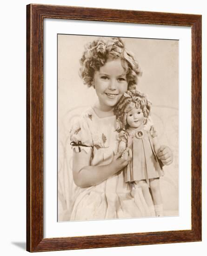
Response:
M95 90L79 77L84 45L97 37L58 35L58 221L70 219L76 186L72 176L69 131L73 120L97 100ZM138 89L152 101L152 119L161 144L169 146L174 162L160 178L164 215L179 215L179 41L122 38L140 64Z

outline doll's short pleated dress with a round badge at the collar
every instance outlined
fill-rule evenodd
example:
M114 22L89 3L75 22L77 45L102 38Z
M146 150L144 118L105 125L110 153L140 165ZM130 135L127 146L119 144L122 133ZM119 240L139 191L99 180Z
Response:
M148 130L142 128L127 129L120 133L120 139L127 142L127 148L132 150L132 159L125 168L125 182L135 182L158 178L164 175L162 162L158 159L153 146L152 137L157 136L154 126Z

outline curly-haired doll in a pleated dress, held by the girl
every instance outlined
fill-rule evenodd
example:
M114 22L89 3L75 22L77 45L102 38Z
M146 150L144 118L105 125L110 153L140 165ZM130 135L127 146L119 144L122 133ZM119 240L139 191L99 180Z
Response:
M145 94L137 90L127 91L116 105L114 112L120 123L119 152L125 159L128 148L132 150L132 160L125 168L125 182L130 182L131 195L136 201L136 187L141 186L152 215L163 215L159 178L162 176L162 162L157 154L160 144L157 133L149 119L151 103ZM127 149L126 149L127 148ZM152 197L148 189L152 192Z

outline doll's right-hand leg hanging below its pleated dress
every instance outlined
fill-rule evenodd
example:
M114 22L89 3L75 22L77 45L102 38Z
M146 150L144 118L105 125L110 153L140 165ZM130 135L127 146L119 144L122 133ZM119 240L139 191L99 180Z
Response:
M163 216L162 196L160 192L160 178L150 179L149 182L153 196L156 216Z

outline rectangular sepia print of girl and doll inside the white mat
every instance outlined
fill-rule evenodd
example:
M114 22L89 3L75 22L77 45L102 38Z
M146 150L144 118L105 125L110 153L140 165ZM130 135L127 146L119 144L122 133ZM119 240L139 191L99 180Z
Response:
M57 35L58 222L179 216L179 40Z

